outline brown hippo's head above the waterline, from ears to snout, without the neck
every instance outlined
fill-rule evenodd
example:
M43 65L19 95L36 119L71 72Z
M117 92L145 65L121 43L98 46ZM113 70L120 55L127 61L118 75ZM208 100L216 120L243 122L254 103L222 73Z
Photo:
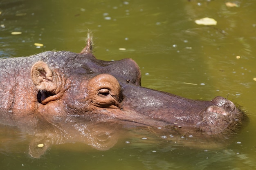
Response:
M48 121L70 116L107 118L179 134L227 138L242 126L246 116L233 102L223 97L191 100L141 87L141 73L133 60L97 60L91 49L89 38L81 53L54 52L32 66L36 111ZM53 64L53 57L65 60Z

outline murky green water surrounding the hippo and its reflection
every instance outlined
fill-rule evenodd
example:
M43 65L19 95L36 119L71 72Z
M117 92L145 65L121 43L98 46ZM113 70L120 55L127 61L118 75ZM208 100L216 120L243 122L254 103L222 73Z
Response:
M2 57L80 52L90 29L94 55L101 60L132 58L141 68L142 86L191 99L228 96L243 106L250 122L222 150L133 146L124 139L107 151L83 144L54 145L40 159L28 155L29 135L1 125L0 168L255 169L256 1L234 2L239 7L226 7L222 0L1 0ZM204 17L214 18L217 25L195 24ZM13 31L22 34L11 35Z

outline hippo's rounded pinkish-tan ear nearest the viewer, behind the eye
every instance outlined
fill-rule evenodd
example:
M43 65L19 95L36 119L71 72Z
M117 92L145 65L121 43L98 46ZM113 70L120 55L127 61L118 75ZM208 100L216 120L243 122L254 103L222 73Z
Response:
M54 93L57 89L56 73L45 62L39 61L32 66L31 79L38 90Z

